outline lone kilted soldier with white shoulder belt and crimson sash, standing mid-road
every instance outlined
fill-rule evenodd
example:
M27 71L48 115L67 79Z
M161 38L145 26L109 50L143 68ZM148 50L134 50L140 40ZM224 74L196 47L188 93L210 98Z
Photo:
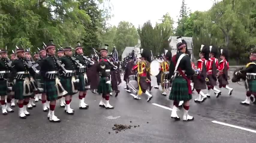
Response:
M183 121L194 120L193 116L189 116L189 100L192 99L192 89L190 86L190 76L195 72L192 70L189 55L186 53L186 44L181 41L181 37L178 37L176 55L171 58L170 63L170 76L173 77L171 93L169 100L173 101L173 109L171 112L171 118L180 120L177 115L179 101L184 101L183 108Z

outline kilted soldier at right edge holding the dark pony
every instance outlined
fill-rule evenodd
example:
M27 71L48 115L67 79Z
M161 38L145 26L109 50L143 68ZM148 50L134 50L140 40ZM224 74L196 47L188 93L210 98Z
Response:
M246 73L246 82L248 90L246 92L246 100L240 102L242 105L249 105L251 101L255 101L256 97L256 50L253 50L250 54L250 62L246 64L246 67L240 71L237 71L236 75Z

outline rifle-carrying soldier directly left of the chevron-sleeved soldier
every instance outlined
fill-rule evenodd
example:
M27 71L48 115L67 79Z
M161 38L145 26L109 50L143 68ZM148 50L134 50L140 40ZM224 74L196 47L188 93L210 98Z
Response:
M79 63L82 64L81 67L79 67L76 71L76 76L78 76L79 79L79 109L87 109L89 105L85 103L85 96L87 93L87 90L90 88L90 83L88 81L88 76L86 74L88 61L85 59L89 59L88 57L85 57L83 55L83 49L80 43L78 42L78 45L76 46L76 55L74 56L76 60L79 61ZM94 64L94 63L91 63Z

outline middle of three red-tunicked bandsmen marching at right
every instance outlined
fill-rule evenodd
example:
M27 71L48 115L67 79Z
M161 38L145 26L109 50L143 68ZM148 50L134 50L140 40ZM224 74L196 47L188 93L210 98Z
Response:
M210 91L215 90L217 91L217 96L219 96L219 94L221 94L220 90L218 90L217 88L215 88L214 86L217 86L217 68L218 68L218 59L216 58L217 53L218 53L218 49L215 46L210 46L209 47L209 60L207 61L207 65L206 65L206 71L207 71L207 78L209 79L208 82L206 82L207 84L207 97L210 97Z

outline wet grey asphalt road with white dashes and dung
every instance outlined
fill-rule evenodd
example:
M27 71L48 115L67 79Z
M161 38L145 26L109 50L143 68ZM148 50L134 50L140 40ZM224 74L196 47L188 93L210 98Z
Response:
M152 84L155 84L154 78ZM228 96L228 91L222 89L222 95L218 99L212 92L212 97L201 104L191 100L189 114L195 118L191 122L170 119L172 101L166 100L158 89L152 89L153 99L147 102L146 95L142 95L141 100L134 100L123 87L124 82L119 86L121 92L118 97L110 97L110 104L115 109L99 107L101 96L91 91L86 95L86 103L90 105L88 110L79 109L78 95L73 97L71 108L75 110L74 115L65 114L58 102L55 115L62 120L61 123L48 121L41 102L28 110L31 116L27 119L19 119L16 106L13 108L14 113L0 115L1 143L255 142L256 106L240 105L246 95L243 86L237 83L230 81L230 87L234 88L232 96ZM193 96L195 98L195 94ZM178 115L182 118L182 108ZM114 124L132 125L132 128L115 133L112 130ZM139 127L134 128L134 125Z

